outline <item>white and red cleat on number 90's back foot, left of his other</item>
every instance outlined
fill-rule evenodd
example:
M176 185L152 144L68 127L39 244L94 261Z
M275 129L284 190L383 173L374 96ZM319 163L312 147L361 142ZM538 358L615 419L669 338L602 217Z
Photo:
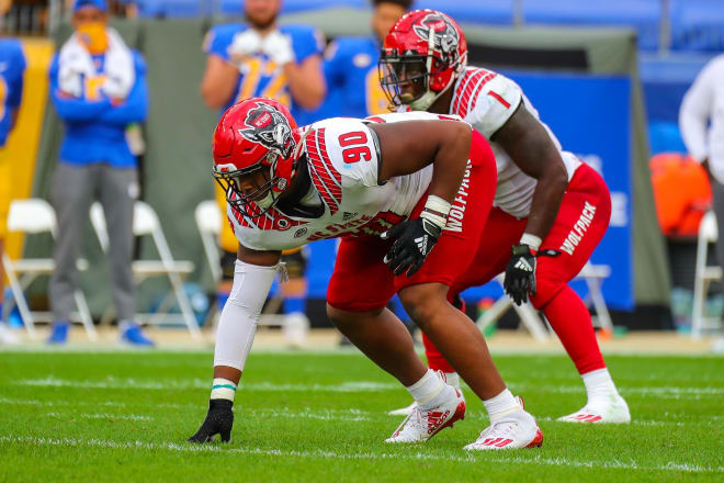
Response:
M449 391L450 397L443 403L423 411L415 404L411 413L407 415L403 424L385 441L427 441L444 428L452 428L453 423L456 420L465 419L465 400L463 398L463 393L449 384L445 384L443 391Z

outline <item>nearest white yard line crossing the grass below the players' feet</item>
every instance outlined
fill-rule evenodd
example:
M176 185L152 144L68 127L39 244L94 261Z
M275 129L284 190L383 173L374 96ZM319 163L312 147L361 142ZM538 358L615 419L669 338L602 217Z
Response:
M218 453L236 453L236 454L254 454L254 456L271 456L271 457L289 457L289 458L325 458L325 459L343 459L343 460L414 460L414 461L455 461L462 463L471 463L480 460L488 462L508 463L508 464L533 464L533 465L551 465L551 467L569 467L569 468L590 468L590 469L622 469L622 470L642 470L642 471L677 471L677 472L691 472L691 473L711 473L722 472L724 467L700 467L689 463L677 463L670 461L665 465L653 467L640 464L633 460L627 461L577 461L568 458L544 458L541 454L535 454L532 458L524 458L518 454L519 452L485 452L482 453L467 453L465 456L453 454L426 454L420 451L410 453L375 453L375 452L354 452L343 453L328 450L314 450L314 451L295 451L295 450L281 450L281 449L260 449L260 448L222 448L218 446L195 446L190 443L174 443L174 442L144 442L144 441L113 441L103 439L75 439L75 438L36 438L30 436L0 436L1 443L11 445L27 445L27 446L58 446L58 447L90 447L90 448L106 448L106 449L143 449L151 451L179 451L179 452L218 452Z

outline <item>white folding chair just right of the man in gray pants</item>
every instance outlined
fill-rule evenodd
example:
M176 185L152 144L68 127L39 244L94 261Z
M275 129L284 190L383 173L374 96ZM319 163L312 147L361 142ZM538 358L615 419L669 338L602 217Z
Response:
M103 214L103 207L99 202L91 205L90 218L103 251L108 251L109 234L105 224L105 215ZM131 270L133 271L136 282L140 283L149 277L168 277L173 294L179 303L181 316L189 328L191 337L195 340L201 339L199 323L191 308L191 302L183 291L182 281L182 277L193 272L193 263L188 260L173 259L166 236L163 235L163 231L161 229L161 223L158 220L158 215L150 205L143 201L136 201L134 204L133 234L135 236L150 236L159 255L158 260L134 260L132 262ZM156 314L137 314L138 322L160 324L161 318L165 315L168 315L165 314L163 308L167 308L166 303L161 304Z

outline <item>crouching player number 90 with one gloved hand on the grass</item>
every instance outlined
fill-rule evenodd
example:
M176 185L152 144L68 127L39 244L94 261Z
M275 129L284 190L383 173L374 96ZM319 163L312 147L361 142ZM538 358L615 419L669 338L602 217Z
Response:
M208 413L191 441L230 437L234 394L281 251L341 237L327 313L417 403L387 441L426 441L465 414L462 393L425 367L408 330L385 307L397 292L490 415L490 427L466 448L541 446L535 419L506 389L480 332L446 301L472 267L490 211L493 153L456 116L387 121L337 117L298 130L284 105L269 99L242 101L222 117L214 177L227 193L239 249Z

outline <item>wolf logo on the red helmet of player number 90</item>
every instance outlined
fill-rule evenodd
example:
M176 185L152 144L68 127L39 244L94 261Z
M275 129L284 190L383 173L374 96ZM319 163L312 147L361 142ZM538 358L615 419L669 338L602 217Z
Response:
M292 127L276 108L257 102L257 106L247 113L244 124L247 127L238 132L245 138L276 150L284 158L289 158L292 154L295 147Z

